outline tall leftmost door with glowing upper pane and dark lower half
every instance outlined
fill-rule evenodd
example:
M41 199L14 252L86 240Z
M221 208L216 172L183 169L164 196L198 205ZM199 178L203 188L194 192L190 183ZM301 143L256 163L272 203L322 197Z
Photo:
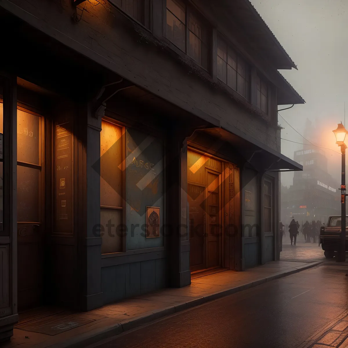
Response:
M17 261L19 310L39 306L43 296L41 122L42 118L38 114L18 108Z

